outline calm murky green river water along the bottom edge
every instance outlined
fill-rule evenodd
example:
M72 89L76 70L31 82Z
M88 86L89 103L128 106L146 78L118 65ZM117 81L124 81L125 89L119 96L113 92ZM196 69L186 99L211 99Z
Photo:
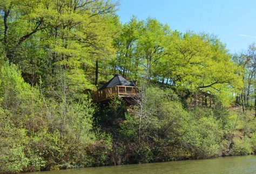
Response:
M30 174L82 173L256 173L256 156L247 155L163 163L102 166L96 168L30 172Z

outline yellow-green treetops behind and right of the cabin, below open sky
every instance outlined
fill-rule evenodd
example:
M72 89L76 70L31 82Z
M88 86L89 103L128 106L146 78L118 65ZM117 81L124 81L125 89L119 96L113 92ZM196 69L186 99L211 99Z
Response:
M230 106L232 93L242 88L241 68L211 35L182 34L156 19L132 17L114 43L113 66L120 74L171 86L185 100L193 93L206 93L214 96L215 104Z

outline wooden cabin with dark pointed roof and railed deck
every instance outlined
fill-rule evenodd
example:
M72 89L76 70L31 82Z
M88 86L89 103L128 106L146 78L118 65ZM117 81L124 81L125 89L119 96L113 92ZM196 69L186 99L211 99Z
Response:
M116 74L102 88L92 92L92 100L93 102L102 102L113 96L127 98L137 96L137 94L136 81L127 81L121 75Z

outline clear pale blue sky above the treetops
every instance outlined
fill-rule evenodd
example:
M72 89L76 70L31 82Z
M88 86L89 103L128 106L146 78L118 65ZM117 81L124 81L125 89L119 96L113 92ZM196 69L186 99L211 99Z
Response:
M117 13L122 23L152 17L172 30L215 34L230 53L256 42L255 0L120 0Z

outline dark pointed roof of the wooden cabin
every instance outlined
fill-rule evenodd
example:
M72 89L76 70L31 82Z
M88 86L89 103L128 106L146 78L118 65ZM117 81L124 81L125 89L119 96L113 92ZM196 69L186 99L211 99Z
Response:
M111 88L113 86L135 86L133 81L127 81L123 76L121 76L120 74L116 74L114 75L113 78L111 78L111 80L109 82L107 82L106 84L104 84L102 86L102 88L99 88L98 90L103 90L106 88Z

